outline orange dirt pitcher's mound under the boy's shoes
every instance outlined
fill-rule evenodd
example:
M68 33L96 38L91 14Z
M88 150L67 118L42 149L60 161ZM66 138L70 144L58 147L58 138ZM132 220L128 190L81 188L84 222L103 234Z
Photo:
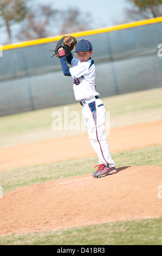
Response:
M17 188L0 199L0 235L162 216L162 167L121 167Z

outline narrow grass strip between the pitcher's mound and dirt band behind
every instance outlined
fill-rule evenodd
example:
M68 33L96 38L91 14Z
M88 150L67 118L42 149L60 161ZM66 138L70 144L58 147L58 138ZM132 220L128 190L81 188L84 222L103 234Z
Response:
M162 145L159 145L150 148L122 151L112 154L112 157L116 168L144 165L162 166L161 150ZM98 164L98 158L92 156L84 159L8 169L0 172L3 194L18 187L89 174L93 172L95 164Z

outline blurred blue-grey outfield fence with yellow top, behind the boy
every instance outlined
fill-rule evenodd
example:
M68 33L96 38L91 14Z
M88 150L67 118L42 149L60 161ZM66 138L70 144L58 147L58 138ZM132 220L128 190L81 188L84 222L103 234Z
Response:
M92 42L101 97L162 86L162 17L73 33ZM0 48L0 115L76 102L73 78L50 52L55 36ZM74 57L75 57L74 53Z

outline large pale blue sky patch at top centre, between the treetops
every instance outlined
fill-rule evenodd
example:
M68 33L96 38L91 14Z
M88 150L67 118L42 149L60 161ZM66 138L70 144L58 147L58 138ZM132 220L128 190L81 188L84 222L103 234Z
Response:
M44 0L35 0L36 3L44 3ZM81 13L90 13L93 18L94 27L113 26L114 22L118 23L124 19L124 11L128 7L127 0L46 0L56 9L66 10L77 8ZM61 4L60 4L61 3Z

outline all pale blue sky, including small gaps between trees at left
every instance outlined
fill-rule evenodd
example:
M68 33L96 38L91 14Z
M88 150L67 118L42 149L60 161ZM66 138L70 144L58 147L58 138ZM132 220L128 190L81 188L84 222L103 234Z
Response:
M125 10L129 6L127 0L30 0L34 7L37 4L51 4L51 7L59 10L67 10L68 8L79 9L81 13L90 13L92 24L90 27L103 28L118 25L125 19ZM13 42L17 39L14 37L18 31L19 25L12 25ZM7 33L5 27L0 28L0 44L7 41Z

